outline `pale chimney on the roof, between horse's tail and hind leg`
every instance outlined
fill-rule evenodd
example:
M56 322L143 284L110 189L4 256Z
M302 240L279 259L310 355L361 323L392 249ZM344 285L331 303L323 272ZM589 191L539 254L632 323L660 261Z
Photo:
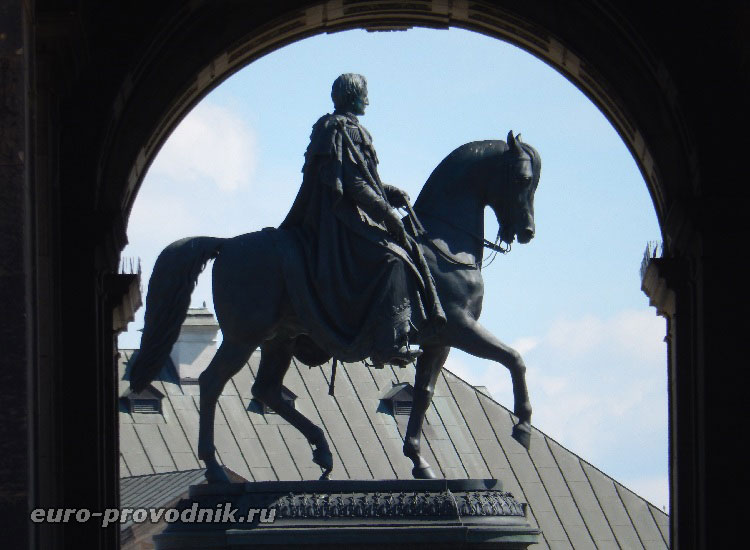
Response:
M181 384L197 383L198 376L216 354L218 332L219 323L206 307L206 302L203 302L203 307L188 309L180 336L169 355Z

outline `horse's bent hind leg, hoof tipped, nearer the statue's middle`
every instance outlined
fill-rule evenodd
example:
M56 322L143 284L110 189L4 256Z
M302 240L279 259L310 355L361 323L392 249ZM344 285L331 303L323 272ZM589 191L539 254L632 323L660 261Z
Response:
M265 342L260 349L260 366L252 388L253 396L305 436L313 447L313 462L323 470L320 479L328 479L333 470L333 455L325 433L281 396L281 384L292 361L292 340Z

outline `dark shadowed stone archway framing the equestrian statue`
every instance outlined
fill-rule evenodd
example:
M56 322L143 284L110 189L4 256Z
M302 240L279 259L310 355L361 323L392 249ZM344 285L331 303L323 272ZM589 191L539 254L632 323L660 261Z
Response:
M22 61L0 67L16 78L3 81L4 91L21 98L20 110L14 103L4 111L15 117L12 128L20 136L8 151L29 151L26 164L23 155L11 155L23 166L12 175L23 192L8 195L7 204L25 217L17 235L2 239L25 258L17 278L24 299L12 309L18 313L12 318L24 321L18 329L5 322L8 330L0 334L6 355L20 357L24 367L4 373L12 387L24 388L26 401L17 410L44 403L22 415L30 426L18 431L24 450L4 454L7 464L30 468L14 502L117 503L107 275L117 270L142 176L188 108L247 62L312 34L457 26L512 42L564 73L605 113L636 158L670 256L657 275L674 298L672 541L701 547L715 536L724 512L707 502L718 500L717 487L731 486L736 471L731 453L715 449L740 430L731 419L741 418L742 403L740 385L722 384L723 368L742 358L743 334L724 315L736 308L744 288L741 272L726 264L734 249L722 237L741 231L746 204L740 200L739 182L746 176L739 146L716 136L733 126L733 106L750 93L743 30L750 11L676 12L639 2L617 11L596 0L65 5L8 2L0 14L12 23L7 44L14 45L0 50L3 60ZM8 40L5 33L2 38ZM716 71L719 58L732 68ZM696 84L696 74L707 77ZM724 163L719 175L711 169L715 159ZM3 277L8 262L0 264ZM66 398L73 395L92 397ZM79 433L89 439L86 455L65 444ZM721 484L709 484L710 471ZM17 528L27 533L29 546L36 540L117 545L116 532L95 525Z

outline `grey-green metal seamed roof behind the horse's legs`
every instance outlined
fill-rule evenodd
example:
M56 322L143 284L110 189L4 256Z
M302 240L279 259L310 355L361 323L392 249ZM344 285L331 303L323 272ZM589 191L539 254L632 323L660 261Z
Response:
M132 350L121 350L122 380ZM256 352L224 388L216 411L219 461L248 480L317 479L311 448L278 415L248 405L260 355ZM167 368L169 368L167 366ZM413 368L372 369L339 365L336 395L328 395L331 366L292 362L285 384L297 394L297 410L321 426L331 445L332 479L411 479L401 452L405 422L381 406L394 384L414 383ZM196 470L197 385L162 376L153 385L165 394L161 414L120 410L121 476ZM667 548L669 517L597 468L532 429L531 450L511 438L512 413L449 371L443 370L427 411L423 451L446 478L497 478L529 504L529 520L542 530L534 549Z

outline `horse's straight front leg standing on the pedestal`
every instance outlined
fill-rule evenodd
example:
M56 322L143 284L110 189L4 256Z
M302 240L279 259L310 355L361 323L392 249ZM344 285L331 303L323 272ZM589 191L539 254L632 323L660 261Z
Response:
M422 423L427 408L432 402L435 393L435 382L448 357L450 348L435 347L424 350L422 356L417 360L417 373L414 378L414 400L412 402L409 423L406 426L406 437L404 437L404 455L411 459L414 464L412 475L416 479L433 479L435 472L430 464L422 457L420 450L422 440Z

